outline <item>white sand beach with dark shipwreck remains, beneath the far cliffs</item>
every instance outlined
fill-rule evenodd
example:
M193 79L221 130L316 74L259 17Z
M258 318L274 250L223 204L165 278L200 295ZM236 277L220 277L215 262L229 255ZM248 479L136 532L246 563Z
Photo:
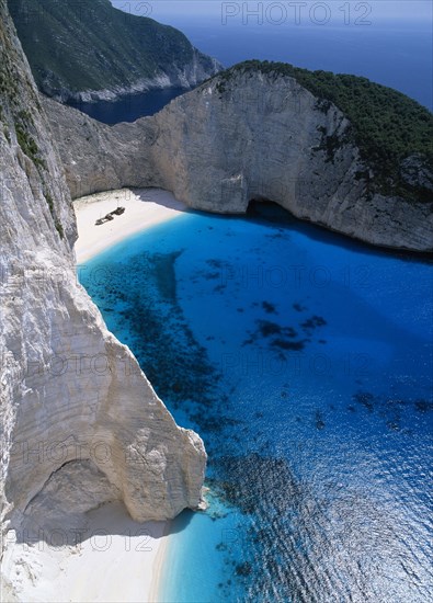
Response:
M99 218L118 206L125 207L122 216L114 216L113 220L95 226ZM86 262L134 232L172 219L186 209L182 202L161 189L122 189L98 193L78 198L73 207L78 224L75 247L78 263Z

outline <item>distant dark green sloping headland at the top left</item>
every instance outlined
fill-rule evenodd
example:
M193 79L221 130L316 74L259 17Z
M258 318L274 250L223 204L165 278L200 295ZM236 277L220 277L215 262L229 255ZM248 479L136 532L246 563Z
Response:
M36 83L61 91L127 88L174 68L194 47L178 30L114 9L109 0L8 0ZM213 60L195 50L207 73Z

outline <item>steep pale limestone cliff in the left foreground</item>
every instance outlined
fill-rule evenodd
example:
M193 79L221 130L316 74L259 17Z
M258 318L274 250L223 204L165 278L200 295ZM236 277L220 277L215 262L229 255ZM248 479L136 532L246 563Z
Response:
M71 509L119 499L138 521L173 517L201 501L203 443L77 283L70 194L5 0L0 96L2 531L65 471Z

